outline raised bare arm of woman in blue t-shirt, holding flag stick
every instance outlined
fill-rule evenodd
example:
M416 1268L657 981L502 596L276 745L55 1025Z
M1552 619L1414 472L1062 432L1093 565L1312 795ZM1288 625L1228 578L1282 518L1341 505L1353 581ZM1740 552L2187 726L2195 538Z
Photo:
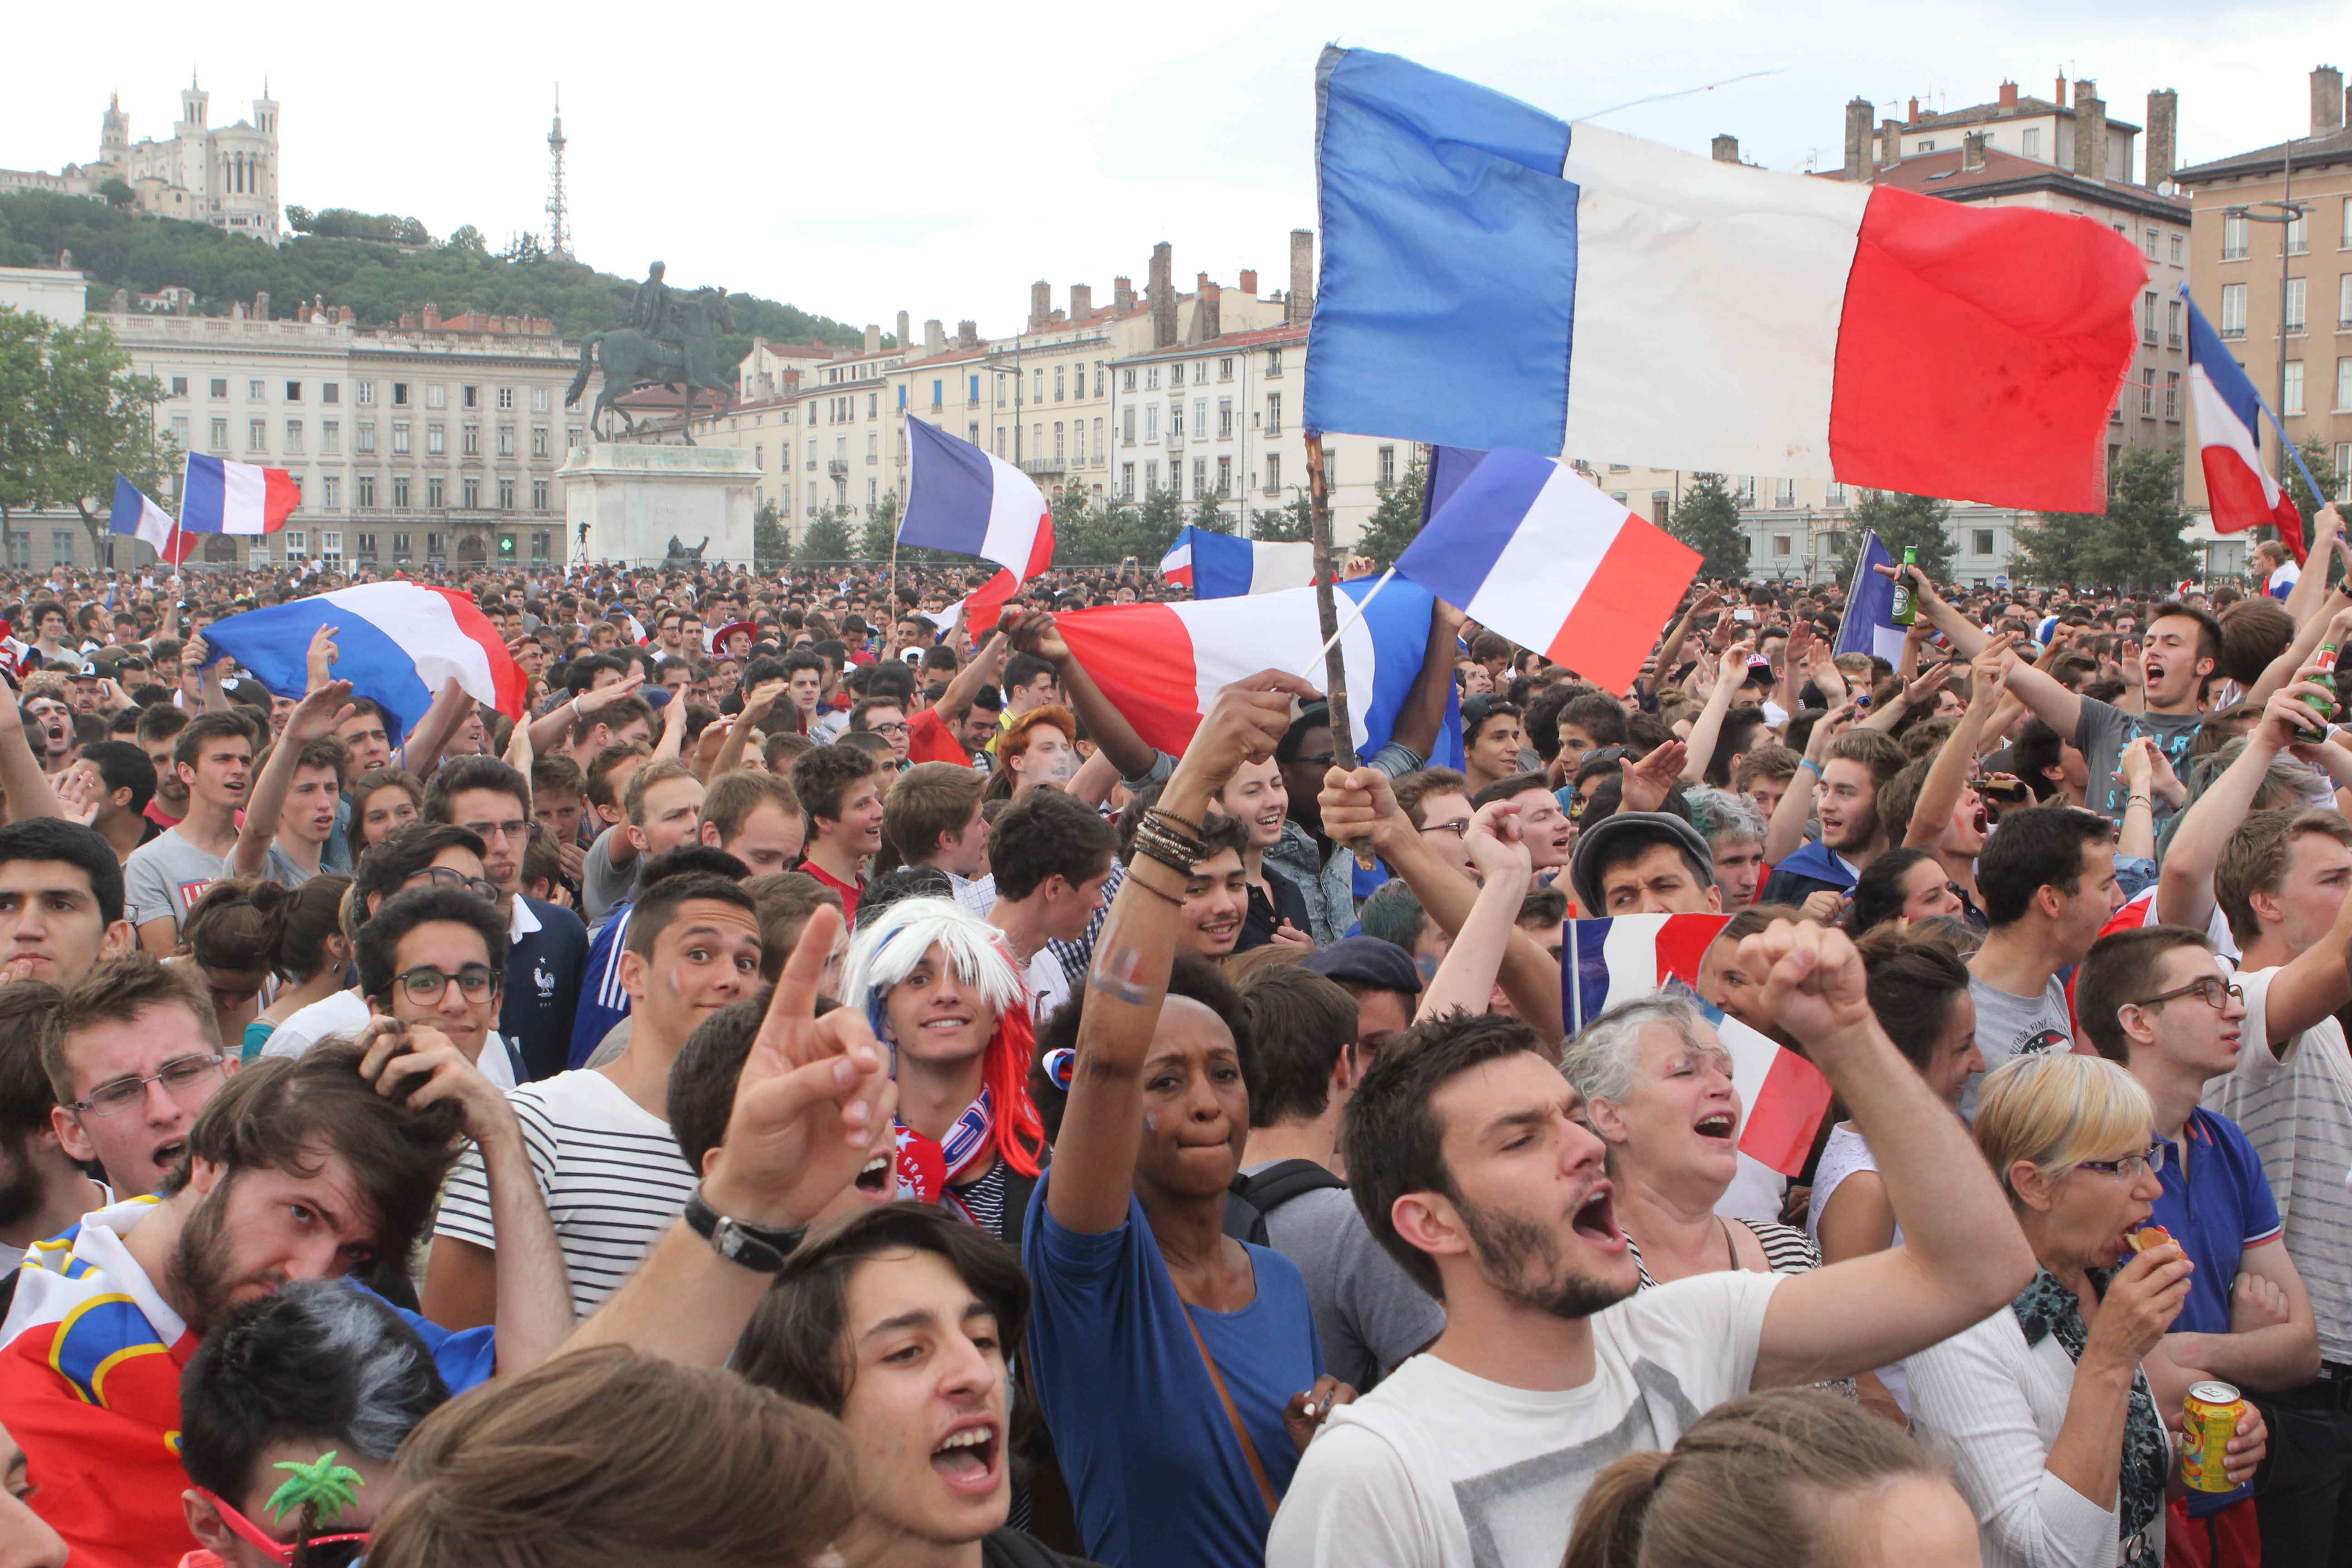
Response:
M1291 724L1294 696L1312 696L1312 686L1279 670L1218 691L1160 792L1152 820L1174 820L1176 832L1204 820L1209 802L1244 759L1275 755ZM1094 943L1070 1100L1047 1187L1047 1211L1065 1229L1101 1234L1127 1222L1143 1145L1143 1067L1167 1001L1185 884L1183 870L1136 849Z

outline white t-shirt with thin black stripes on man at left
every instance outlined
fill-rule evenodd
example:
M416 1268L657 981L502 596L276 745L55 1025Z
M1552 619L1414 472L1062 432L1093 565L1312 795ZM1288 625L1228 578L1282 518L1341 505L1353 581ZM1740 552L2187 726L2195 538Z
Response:
M684 1211L694 1168L670 1124L602 1072L560 1072L508 1098L564 1248L572 1309L588 1316ZM480 1150L468 1147L449 1175L433 1234L496 1251Z

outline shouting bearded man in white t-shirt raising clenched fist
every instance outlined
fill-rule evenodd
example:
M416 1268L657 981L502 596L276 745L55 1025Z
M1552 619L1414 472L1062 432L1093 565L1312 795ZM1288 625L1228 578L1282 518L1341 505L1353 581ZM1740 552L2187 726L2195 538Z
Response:
M1903 1067L1839 931L1745 940L1764 1009L1844 1095L1905 1246L1809 1274L1722 1269L1635 1293L1602 1140L1522 1023L1454 1016L1381 1053L1341 1147L1357 1208L1446 1331L1331 1413L1268 1568L1552 1568L1592 1479L1703 1410L1851 1378L2002 1309L2034 1260L1969 1133Z

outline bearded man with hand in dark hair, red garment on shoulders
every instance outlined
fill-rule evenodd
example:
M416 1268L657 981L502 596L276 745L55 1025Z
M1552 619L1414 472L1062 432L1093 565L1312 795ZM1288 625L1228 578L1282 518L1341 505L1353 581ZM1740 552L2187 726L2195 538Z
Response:
M45 1056L165 1009L212 1027L205 992L153 959L99 966L59 1001ZM463 1389L529 1368L572 1319L515 1112L435 1030L383 1023L362 1044L240 1074L198 1117L160 1201L92 1211L33 1248L0 1321L0 1406L40 1479L33 1507L75 1563L153 1568L193 1549L174 1434L198 1338L289 1279L405 1258L461 1133L501 1173L510 1309L496 1338L405 1316Z

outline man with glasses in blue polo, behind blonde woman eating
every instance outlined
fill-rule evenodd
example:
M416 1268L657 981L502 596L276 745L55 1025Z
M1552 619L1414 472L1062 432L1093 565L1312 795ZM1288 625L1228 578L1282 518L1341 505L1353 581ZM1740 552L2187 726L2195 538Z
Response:
M2303 1274L2281 1246L2279 1206L2246 1133L2197 1103L2206 1084L2237 1070L2241 1051L2256 1048L2239 1041L2244 990L2199 933L2138 926L2091 947L2074 971L2074 1004L2098 1053L2147 1088L2164 1182L2152 1218L2197 1265L2187 1305L2147 1359L2154 1382L2173 1378L2159 1406L2171 1408L2187 1382L2204 1378L2256 1396L2300 1389L2319 1371L2319 1331ZM2296 1425L2300 1413L2284 1415ZM2256 1561L2251 1486L2173 1502L2166 1540L2204 1544L2209 1563Z

